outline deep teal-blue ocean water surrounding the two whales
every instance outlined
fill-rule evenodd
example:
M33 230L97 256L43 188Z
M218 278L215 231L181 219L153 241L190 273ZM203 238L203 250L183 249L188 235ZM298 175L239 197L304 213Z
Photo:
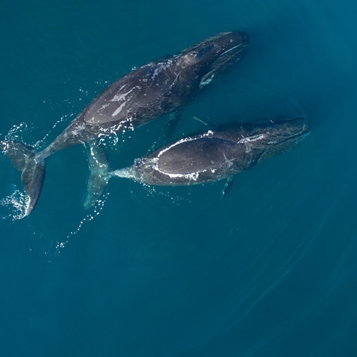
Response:
M21 215L0 154L0 356L357 356L354 1L9 1L0 5L0 140L48 145L135 66L219 31L246 58L183 112L175 137L303 114L292 151L223 182L113 179L83 208L84 148L51 156ZM118 137L118 167L167 117Z

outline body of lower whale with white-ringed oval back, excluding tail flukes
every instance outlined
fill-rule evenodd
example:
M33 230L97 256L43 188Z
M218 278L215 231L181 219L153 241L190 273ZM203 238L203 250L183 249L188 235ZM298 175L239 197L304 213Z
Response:
M308 133L305 117L269 121L268 124L233 124L226 128L187 136L136 159L125 169L111 171L104 161L101 176L131 178L139 183L160 186L184 186L229 181L241 171L263 160L288 151ZM94 164L94 161L92 161ZM96 176L99 171L96 171Z

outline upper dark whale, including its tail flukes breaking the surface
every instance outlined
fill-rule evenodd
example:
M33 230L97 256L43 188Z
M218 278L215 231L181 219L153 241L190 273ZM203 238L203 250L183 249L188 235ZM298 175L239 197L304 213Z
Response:
M144 64L99 94L43 151L2 141L3 151L22 171L21 181L29 195L25 215L32 211L41 193L48 156L99 136L132 130L181 109L201 86L241 59L248 42L244 32L223 32L174 56Z

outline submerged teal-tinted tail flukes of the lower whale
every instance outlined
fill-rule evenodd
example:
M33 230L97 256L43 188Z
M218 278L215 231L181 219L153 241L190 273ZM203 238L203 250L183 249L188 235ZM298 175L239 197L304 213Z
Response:
M110 171L106 154L98 144L89 145L88 164L90 174L87 183L86 199L84 201L85 209L93 206L102 195L109 181L108 173Z

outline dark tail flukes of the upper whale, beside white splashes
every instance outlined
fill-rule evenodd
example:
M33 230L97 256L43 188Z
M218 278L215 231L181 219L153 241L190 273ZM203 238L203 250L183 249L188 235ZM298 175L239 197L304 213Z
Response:
M28 216L36 206L44 184L44 159L38 153L36 154L30 146L16 141L1 141L1 146L3 146L3 151L9 156L15 169L22 171L21 181L29 195L24 216Z

